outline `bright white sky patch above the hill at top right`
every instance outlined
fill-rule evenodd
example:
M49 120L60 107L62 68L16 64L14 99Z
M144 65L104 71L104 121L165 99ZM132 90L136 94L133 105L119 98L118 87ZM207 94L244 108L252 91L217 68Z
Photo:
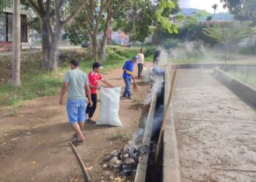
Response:
M207 12L214 12L212 5L218 4L216 12L227 12L227 9L222 8L222 3L219 0L179 0L180 7L190 7L196 9L204 9Z

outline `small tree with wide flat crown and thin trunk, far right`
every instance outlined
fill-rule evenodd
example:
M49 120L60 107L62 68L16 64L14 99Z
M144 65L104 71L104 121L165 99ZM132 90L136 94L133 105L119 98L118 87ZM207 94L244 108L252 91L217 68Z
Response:
M245 39L249 35L252 35L253 30L252 27L249 27L248 22L243 24L234 22L227 25L227 27L221 27L220 25L215 24L211 27L203 28L203 33L225 45L226 63L230 45Z

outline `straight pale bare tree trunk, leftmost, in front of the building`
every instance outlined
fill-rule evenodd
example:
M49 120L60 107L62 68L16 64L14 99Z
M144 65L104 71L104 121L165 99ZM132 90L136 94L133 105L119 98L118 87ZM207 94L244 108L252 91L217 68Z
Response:
M12 84L20 86L20 0L13 1Z

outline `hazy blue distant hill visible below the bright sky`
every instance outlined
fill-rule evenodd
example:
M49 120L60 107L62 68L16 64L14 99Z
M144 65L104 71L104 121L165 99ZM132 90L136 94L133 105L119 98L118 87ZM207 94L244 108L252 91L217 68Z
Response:
M200 12L201 9L195 9L195 8L181 8L181 12L184 15L190 16L193 14L193 12ZM210 13L210 15L212 15ZM229 12L219 12L214 15L213 20L221 20L221 21L233 21L234 17L233 15L230 15ZM200 18L200 21L206 21L206 18Z

